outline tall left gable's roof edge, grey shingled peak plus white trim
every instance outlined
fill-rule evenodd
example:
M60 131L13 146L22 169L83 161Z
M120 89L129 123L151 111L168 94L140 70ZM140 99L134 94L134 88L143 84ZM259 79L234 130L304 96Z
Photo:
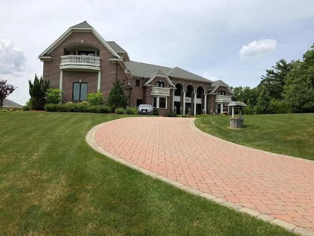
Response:
M50 45L44 52L39 55L39 59L43 60L51 60L49 54L62 43L69 35L73 32L92 32L98 39L101 41L104 46L112 53L114 57L117 59L121 59L119 54L105 41L105 39L93 28L91 27L86 21L79 23L73 27L70 27L67 31L65 31L57 40L55 40L52 45Z

